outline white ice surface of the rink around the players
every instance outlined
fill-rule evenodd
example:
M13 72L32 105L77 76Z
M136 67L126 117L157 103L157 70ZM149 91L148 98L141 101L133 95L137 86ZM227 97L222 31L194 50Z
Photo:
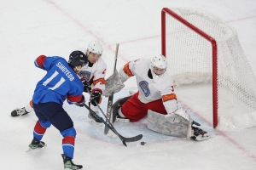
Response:
M55 127L49 127L44 135L47 144L44 150L26 152L37 117L33 112L10 116L16 107L23 107L32 99L36 83L44 76L44 71L34 66L34 59L40 54L67 59L73 50L84 50L91 40L98 40L103 44L102 58L108 65L109 77L113 73L116 43L119 43L118 70L131 59L149 59L160 53L161 8L202 8L227 21L236 28L256 74L255 0L0 0L0 3L1 169L63 169L62 137ZM134 78L125 85L114 99L137 90ZM187 104L190 97L181 95L181 101ZM103 111L107 110L107 101L103 98ZM92 170L256 169L256 127L218 131L212 128L212 121L196 112L200 103L189 106L195 111L191 116L212 135L211 139L195 142L154 133L148 130L144 118L139 122L114 124L125 137L143 134L141 141L145 145L138 141L125 147L118 138L105 136L103 127L91 125L85 108L65 103L78 133L73 161Z

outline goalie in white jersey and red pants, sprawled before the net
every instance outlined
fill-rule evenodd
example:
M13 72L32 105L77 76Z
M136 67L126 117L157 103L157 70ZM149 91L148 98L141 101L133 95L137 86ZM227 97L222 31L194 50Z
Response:
M177 106L172 78L166 72L166 57L137 59L120 69L121 81L135 76L138 92L113 104L113 122L136 122L148 115L148 128L167 135L202 140L207 132L194 122L183 107Z

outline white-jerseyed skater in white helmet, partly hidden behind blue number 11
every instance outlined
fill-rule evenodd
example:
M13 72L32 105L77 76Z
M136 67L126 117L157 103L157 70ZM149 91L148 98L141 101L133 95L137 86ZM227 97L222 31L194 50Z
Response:
M90 109L95 111L98 114L97 104L101 103L102 93L105 90L105 76L107 65L102 59L102 43L97 41L92 41L88 45L86 54L88 58L88 64L83 66L82 71L79 72L79 77L84 83L84 92L90 94L90 98L94 100L90 101ZM23 108L17 108L11 112L11 116L23 116L27 113L33 111L32 100ZM89 112L90 122L95 123L96 125L102 126L102 122L98 121L96 117Z

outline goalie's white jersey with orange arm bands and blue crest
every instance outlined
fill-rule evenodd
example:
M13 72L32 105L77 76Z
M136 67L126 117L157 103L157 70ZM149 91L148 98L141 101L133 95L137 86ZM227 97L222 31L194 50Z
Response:
M162 99L167 113L177 110L177 98L174 93L172 78L165 71L157 82L148 77L150 59L137 59L128 62L120 69L119 74L122 82L128 78L136 76L137 88L139 90L138 99L144 104L157 99Z

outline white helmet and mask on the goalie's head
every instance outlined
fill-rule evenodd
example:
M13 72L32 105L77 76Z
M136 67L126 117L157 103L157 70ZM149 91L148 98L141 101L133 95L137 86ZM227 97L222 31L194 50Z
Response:
M151 59L150 70L154 82L157 82L159 77L165 73L166 67L167 61L164 55L158 54Z

